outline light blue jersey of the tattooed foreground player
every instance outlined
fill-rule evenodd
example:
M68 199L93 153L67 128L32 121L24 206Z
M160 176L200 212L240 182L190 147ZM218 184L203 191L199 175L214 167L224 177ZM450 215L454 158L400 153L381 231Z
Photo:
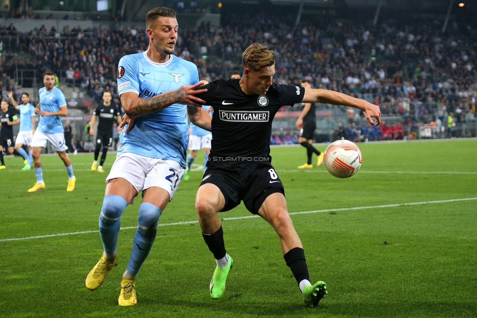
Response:
M125 55L118 66L118 93L135 92L141 98L152 98L182 85L199 82L197 67L171 55L166 63L155 63L146 52ZM173 104L161 111L136 118L134 128L121 132L122 152L169 159L185 167L187 152L186 105Z

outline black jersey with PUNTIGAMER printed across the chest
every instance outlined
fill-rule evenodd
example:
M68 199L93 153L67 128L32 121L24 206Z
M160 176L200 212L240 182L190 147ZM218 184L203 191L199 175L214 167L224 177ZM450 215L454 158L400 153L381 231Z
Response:
M211 160L215 157L266 157L270 155L272 120L285 105L303 100L304 88L273 84L265 95L247 95L239 79L213 81L197 95L214 108L212 115ZM247 161L235 160L231 161Z

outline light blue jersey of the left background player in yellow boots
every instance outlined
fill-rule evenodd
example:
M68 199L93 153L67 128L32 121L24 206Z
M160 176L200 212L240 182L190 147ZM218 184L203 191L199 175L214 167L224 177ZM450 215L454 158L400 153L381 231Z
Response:
M66 106L65 95L56 86L53 86L51 91L46 91L46 88L42 87L38 91L38 95L40 95L42 111L58 112L60 106ZM40 116L38 130L47 134L63 133L60 116Z

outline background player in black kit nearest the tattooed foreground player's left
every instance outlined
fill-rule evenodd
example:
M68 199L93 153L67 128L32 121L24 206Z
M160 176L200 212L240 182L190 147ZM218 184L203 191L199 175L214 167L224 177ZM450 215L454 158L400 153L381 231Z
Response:
M105 91L103 93L103 104L94 110L93 116L91 117L91 126L89 127L90 136L94 136L94 123L96 122L96 117L99 117L96 148L94 149L94 161L91 165L91 171L104 172L103 164L108 154L108 148L112 145L112 126L114 118L116 118L118 124L121 124L121 110L118 105L111 103L111 99L111 92ZM119 126L117 126L117 132L121 133ZM101 146L103 146L103 153L98 166L98 156L101 151Z

